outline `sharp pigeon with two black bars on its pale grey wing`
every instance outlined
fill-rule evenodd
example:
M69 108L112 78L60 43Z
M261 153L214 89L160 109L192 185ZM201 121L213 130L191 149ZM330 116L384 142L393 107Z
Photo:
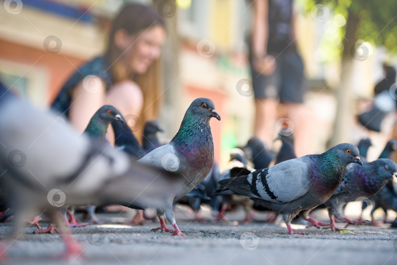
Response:
M245 176L237 174L219 183L225 191L246 195L255 204L283 214L289 234L304 234L292 231L291 220L299 215L312 223L308 227L330 225L314 220L308 214L331 197L350 163L363 164L358 148L339 144L322 154L287 160Z

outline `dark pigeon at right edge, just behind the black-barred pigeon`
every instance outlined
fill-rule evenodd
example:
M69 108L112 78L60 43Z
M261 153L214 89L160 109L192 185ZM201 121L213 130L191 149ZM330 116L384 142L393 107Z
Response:
M328 208L332 230L342 230L335 226L335 218L349 224L363 224L365 221L355 221L344 217L343 206L357 198L369 198L393 179L397 183L397 165L390 159L381 158L363 166L352 164L347 167L342 182L334 194L324 204Z

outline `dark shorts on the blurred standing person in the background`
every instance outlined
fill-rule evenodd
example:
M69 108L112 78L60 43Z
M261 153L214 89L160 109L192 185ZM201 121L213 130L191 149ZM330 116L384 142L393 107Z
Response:
M272 74L263 75L252 68L250 60L255 98L274 98L281 103L303 103L305 78L299 54L296 51L284 51L276 57L276 64Z

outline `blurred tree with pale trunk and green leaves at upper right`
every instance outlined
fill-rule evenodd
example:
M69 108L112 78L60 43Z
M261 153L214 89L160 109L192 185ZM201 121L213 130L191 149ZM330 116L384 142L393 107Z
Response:
M336 16L346 19L339 30L342 45L336 47L341 60L341 83L336 92L338 108L329 145L349 142L347 130L355 119L349 85L352 60L364 61L375 45L397 52L397 3L396 0L308 0L306 9L318 21L331 19L330 14L334 24L338 23Z

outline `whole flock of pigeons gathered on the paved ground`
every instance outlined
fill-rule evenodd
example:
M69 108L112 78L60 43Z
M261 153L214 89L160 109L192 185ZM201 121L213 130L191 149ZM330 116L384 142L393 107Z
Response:
M142 210L155 208L160 226L153 230L174 236L184 236L174 217L177 200L197 213L202 203L209 204L219 211L218 219L225 218L230 206L243 205L245 223L252 208L274 211L282 214L289 234L303 234L291 228L297 216L310 222L308 227L333 230L340 230L335 220L364 223L344 216L347 202L359 197L371 197L376 208L397 210L397 189L390 182L397 183L397 165L389 159L397 149L396 141L390 141L380 158L370 163L365 159L368 139L358 147L340 144L322 154L297 158L292 133L281 130L278 154L258 139L249 139L244 149L257 170L236 148L230 155L234 167L220 173L209 125L213 117L221 120L214 103L197 98L170 143L160 145L155 134L161 129L151 121L145 126L141 147L113 106L102 106L80 135L59 115L30 106L0 85L0 210L9 209L6 215L14 215L11 237L20 235L28 218L45 215L50 225L42 232L60 228L66 253L78 252L68 227L77 224L73 206L80 205L87 205L93 221L97 220L95 205L138 209L134 221L143 217ZM105 141L109 124L115 148ZM275 165L269 167L272 161ZM330 223L309 217L319 207L328 209ZM167 228L164 215L173 229ZM32 220L37 225L39 216Z

